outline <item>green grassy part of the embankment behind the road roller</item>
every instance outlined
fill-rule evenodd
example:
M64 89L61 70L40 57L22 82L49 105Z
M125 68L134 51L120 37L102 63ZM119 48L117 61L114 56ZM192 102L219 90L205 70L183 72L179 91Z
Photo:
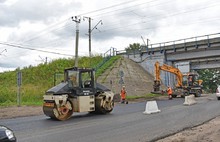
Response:
M97 70L96 78L120 57L110 58ZM79 67L95 68L103 58L95 56L92 58L81 57ZM22 72L21 102L22 105L41 105L46 90L54 86L54 74L63 73L65 68L73 67L73 59L58 59L48 64L40 64L36 67L25 67ZM17 72L19 69L10 72L0 73L0 106L16 105L17 99Z

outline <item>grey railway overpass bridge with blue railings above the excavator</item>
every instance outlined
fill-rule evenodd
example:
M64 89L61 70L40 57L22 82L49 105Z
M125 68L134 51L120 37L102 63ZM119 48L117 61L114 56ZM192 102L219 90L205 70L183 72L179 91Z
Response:
M220 33L151 44L142 46L139 51L118 51L117 54L132 59L153 76L156 61L177 67L183 73L220 68ZM165 85L174 85L172 74L163 72L161 78Z

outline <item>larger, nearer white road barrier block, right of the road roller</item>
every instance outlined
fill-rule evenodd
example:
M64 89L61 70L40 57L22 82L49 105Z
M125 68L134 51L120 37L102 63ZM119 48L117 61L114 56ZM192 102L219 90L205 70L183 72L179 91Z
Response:
M144 114L152 114L152 113L158 113L160 110L158 109L157 102L156 101L148 101L146 103Z

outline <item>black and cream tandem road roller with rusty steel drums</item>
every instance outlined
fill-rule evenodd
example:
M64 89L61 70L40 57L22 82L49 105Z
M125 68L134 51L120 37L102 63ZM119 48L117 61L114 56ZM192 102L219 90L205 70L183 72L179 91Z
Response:
M114 93L96 83L92 68L72 67L64 70L64 80L43 96L43 112L55 120L67 120L73 112L110 113Z

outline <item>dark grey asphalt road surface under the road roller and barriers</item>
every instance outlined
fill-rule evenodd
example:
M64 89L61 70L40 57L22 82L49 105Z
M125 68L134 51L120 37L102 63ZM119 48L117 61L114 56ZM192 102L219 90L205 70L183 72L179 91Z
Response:
M160 113L144 115L146 102L116 104L108 115L74 114L68 121L48 117L0 120L14 130L18 142L145 142L202 124L220 115L214 95L196 98L197 104L183 106L184 99L157 101Z

